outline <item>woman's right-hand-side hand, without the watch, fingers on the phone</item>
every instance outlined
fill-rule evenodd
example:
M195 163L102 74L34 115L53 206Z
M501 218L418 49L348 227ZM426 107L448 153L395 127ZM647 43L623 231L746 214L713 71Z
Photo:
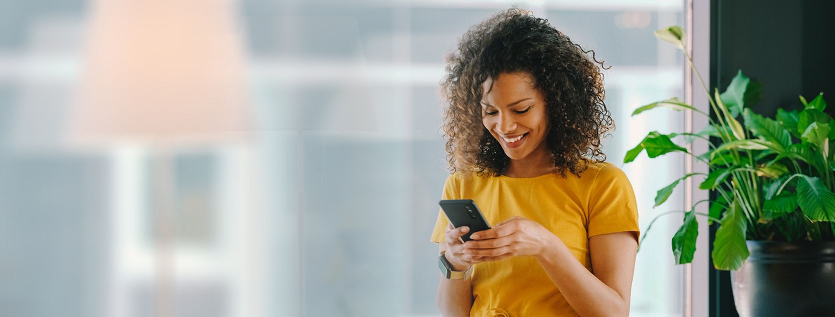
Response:
M470 239L473 241L464 243L463 254L480 256L481 259L473 260L475 264L537 255L559 238L534 221L514 217L492 229L474 233Z

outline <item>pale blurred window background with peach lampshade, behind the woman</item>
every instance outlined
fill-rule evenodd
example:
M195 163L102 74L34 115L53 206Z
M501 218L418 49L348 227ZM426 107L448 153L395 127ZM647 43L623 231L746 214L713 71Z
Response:
M435 316L443 56L504 1L0 0L0 315ZM521 8L612 68L641 229L683 209L676 0ZM632 315L683 314L656 223Z

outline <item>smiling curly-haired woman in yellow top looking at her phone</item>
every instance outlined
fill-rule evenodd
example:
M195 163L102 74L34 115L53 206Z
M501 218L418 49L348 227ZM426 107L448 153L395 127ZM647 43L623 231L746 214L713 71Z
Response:
M463 243L468 228L438 214L431 240L453 273L438 286L444 315L629 314L638 213L600 150L613 123L594 62L516 8L448 58L442 198L473 199L494 225Z

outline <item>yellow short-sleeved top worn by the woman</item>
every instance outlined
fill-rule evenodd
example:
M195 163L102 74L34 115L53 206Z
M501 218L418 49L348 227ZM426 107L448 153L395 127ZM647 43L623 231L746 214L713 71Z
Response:
M591 271L589 238L638 232L638 208L626 174L612 164L589 164L578 178L566 173L529 179L455 173L443 184L442 199L473 199L493 226L520 216L549 229ZM438 213L430 240L444 240L447 217ZM574 309L532 256L473 267L470 316L576 316Z

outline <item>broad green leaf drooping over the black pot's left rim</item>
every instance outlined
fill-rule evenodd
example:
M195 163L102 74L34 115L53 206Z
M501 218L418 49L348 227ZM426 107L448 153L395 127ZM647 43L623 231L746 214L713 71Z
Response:
M747 224L745 214L736 201L722 217L722 224L716 230L713 241L713 266L723 271L736 270L748 259L748 246L745 244Z

